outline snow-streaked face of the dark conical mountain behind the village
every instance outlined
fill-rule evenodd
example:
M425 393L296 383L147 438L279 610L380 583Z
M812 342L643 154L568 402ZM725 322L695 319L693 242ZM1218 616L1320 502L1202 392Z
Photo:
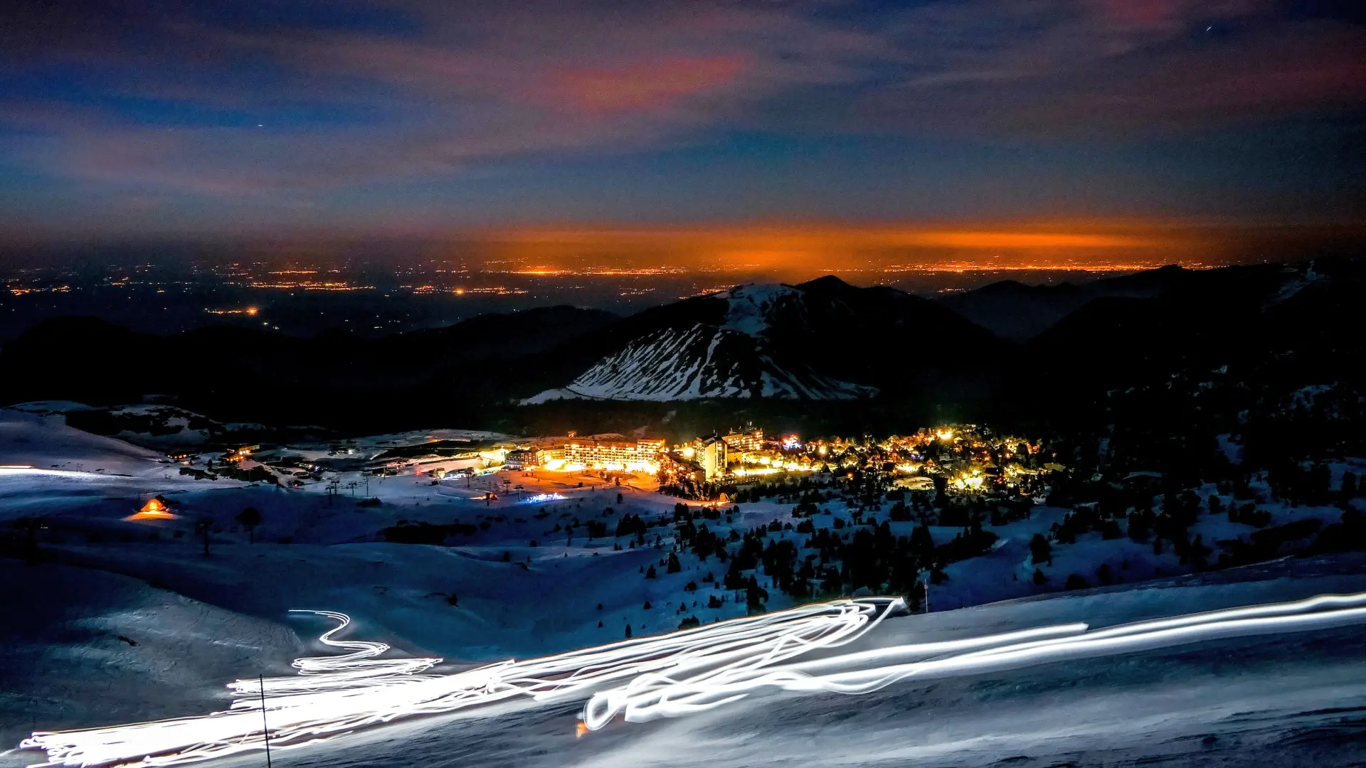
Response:
M525 400L553 399L695 400L779 398L852 400L873 387L822 376L798 359L779 359L769 331L780 312L805 294L792 286L738 286L719 294L727 302L720 325L667 327L630 340L572 383Z

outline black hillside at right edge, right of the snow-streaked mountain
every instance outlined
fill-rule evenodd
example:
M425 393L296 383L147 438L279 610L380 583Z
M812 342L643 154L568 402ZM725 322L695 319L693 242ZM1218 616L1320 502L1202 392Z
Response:
M1096 298L1022 347L1042 407L1231 366L1247 384L1359 385L1359 260L1169 272L1157 295Z

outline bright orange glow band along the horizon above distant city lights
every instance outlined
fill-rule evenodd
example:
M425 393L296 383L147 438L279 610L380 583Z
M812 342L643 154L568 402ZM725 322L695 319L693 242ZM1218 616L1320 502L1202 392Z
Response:
M750 224L527 227L471 234L494 271L519 276L650 276L695 271L784 276L856 272L1138 271L1218 261L1188 225L1050 221L1011 225Z

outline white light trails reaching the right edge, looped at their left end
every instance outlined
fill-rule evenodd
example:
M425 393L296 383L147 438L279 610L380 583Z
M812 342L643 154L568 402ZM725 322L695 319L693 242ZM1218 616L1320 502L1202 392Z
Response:
M682 681L646 674L626 686L594 694L583 711L583 720L589 730L597 730L619 713L632 723L679 717L721 707L762 689L863 694L911 678L994 672L1208 640L1358 623L1366 623L1366 593L1321 594L1294 603L1153 619L1098 631L1087 631L1087 626L1081 623L1059 625L962 641L899 645L787 666L723 668ZM1064 637L1031 638L1044 634ZM953 653L973 645L986 648ZM888 663L907 657L922 660Z

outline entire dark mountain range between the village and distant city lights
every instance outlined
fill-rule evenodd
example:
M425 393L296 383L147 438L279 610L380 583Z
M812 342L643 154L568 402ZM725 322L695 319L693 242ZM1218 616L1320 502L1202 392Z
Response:
M112 404L161 394L220 421L357 433L434 422L535 432L538 413L572 421L613 409L634 414L627 426L635 428L682 400L699 403L690 413L714 403L717 413L799 414L850 429L922 415L1105 418L1106 392L1218 368L1285 392L1358 387L1362 264L1164 268L1101 287L1042 288L1093 298L1023 344L947 302L829 276L630 317L544 307L372 340L240 328L152 336L61 318L0 350L0 400ZM994 284L979 295L1030 291ZM586 398L578 404L515 404L575 385L582 391L557 396Z

